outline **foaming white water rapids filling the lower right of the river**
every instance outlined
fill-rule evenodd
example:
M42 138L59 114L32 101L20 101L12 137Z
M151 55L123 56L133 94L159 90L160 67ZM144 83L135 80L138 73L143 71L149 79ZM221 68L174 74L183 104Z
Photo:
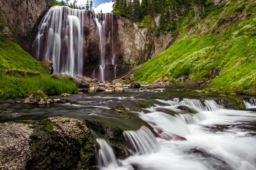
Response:
M255 121L255 112L224 109L214 100L176 98L158 102L162 104L148 107L147 114L134 112L154 128L158 137L144 127L125 131L124 137L133 145L133 156L118 160L116 167L103 169L256 169L256 138L250 135L251 130L239 126ZM179 106L197 113L187 113ZM178 114L167 114L159 108Z

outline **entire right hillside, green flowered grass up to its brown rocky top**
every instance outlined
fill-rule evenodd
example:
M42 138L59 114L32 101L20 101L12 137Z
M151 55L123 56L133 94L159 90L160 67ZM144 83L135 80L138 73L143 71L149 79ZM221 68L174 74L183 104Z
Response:
M178 40L136 70L134 80L152 83L168 76L174 81L187 75L196 81L206 79L208 72L215 68L225 72L204 88L224 87L236 91L251 87L255 90L256 2L233 2L215 5L212 11L208 9L208 15L192 23L193 27L180 22ZM217 28L219 21L231 14L238 17ZM238 62L241 64L237 65Z

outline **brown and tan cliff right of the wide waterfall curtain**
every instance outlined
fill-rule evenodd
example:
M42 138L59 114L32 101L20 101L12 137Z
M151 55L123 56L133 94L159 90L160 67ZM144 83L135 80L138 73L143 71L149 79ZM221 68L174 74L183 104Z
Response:
M140 65L164 51L173 40L171 34L155 36L152 30L139 28L129 19L109 14L105 26L105 59L109 63L105 65L106 70L109 70L106 73L107 79L113 78L115 65L118 70L116 76L120 77L132 67ZM87 13L84 18L83 73L85 76L93 77L99 72L98 67L95 67L100 65L99 42L100 37L93 15ZM114 64L112 64L112 60L114 60Z

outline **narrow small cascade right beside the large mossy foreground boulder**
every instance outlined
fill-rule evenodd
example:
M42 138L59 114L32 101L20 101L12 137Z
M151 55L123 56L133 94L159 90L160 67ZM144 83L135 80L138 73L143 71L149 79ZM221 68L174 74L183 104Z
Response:
M100 145L100 149L98 151L98 165L100 167L106 167L109 165L117 166L115 153L107 141L101 138L97 138L96 141Z

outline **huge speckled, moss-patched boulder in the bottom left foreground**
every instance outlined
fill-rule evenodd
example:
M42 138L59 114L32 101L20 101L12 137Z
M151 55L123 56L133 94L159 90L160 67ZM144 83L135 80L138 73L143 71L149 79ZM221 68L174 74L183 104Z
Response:
M0 169L96 169L92 136L80 120L50 117L0 128Z

